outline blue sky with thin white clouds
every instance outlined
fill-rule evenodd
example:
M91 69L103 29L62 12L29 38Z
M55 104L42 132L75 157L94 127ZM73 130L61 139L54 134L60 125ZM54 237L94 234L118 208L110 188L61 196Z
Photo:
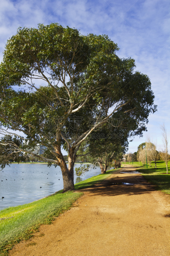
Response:
M129 150L137 151L149 136L161 151L160 125L164 123L170 152L170 1L1 0L0 60L7 40L17 33L17 28L55 22L77 28L83 35L108 35L120 48L120 58L135 59L136 70L151 80L158 111L149 116L143 137L136 136L129 142Z

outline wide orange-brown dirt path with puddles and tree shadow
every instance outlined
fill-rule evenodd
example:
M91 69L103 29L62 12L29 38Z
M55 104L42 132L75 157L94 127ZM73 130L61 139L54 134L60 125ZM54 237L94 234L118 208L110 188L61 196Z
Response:
M131 171L126 165L85 189L75 207L42 225L10 255L170 256L170 196L155 191L140 174L120 173Z

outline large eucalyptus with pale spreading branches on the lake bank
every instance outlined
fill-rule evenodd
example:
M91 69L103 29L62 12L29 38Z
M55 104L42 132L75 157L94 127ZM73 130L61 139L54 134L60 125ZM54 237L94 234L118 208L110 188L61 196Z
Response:
M83 36L57 23L18 29L0 65L2 168L11 155L29 153L59 165L67 191L74 189L80 145L109 118L127 116L131 136L146 131L148 116L156 111L150 80L117 50L106 35ZM44 156L33 153L37 144L46 147Z

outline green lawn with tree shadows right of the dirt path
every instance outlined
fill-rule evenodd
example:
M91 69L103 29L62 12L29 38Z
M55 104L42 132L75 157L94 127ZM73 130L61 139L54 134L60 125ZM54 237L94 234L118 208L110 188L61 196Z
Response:
M129 162L126 162L126 164L129 164ZM132 162L130 162L130 165L132 165ZM158 161L157 169L155 169L154 162L151 163L151 167L148 164L148 168L146 168L146 164L142 166L142 163L140 163L139 165L139 162L134 162L133 165L139 167L137 171L142 172L146 180L155 184L156 189L170 195L170 161L168 162L169 174L166 174L166 164L163 161Z

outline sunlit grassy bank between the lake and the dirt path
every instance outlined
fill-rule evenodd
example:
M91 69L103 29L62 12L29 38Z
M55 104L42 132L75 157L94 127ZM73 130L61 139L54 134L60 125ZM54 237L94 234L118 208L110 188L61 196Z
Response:
M106 174L93 176L75 184L75 189L89 188L110 176ZM41 224L50 224L54 217L70 209L72 203L82 195L81 192L62 190L30 204L9 207L0 211L0 255L7 255L8 250L22 239L29 239Z

